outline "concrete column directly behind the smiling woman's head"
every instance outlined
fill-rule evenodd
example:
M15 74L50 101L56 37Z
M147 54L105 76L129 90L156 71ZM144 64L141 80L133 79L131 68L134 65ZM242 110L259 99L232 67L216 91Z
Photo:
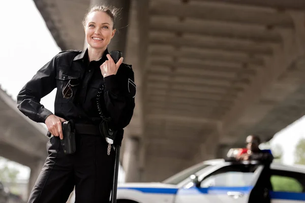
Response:
M116 19L115 22L115 35L112 38L110 44L108 45L108 51L119 50L123 53L126 51L126 39L127 39L127 28L129 24L129 10L130 10L130 0L113 0L113 1L105 1L105 0L91 0L90 7L98 5L98 4L106 4L114 6L118 9L121 9L120 15ZM87 47L85 42L84 47Z

